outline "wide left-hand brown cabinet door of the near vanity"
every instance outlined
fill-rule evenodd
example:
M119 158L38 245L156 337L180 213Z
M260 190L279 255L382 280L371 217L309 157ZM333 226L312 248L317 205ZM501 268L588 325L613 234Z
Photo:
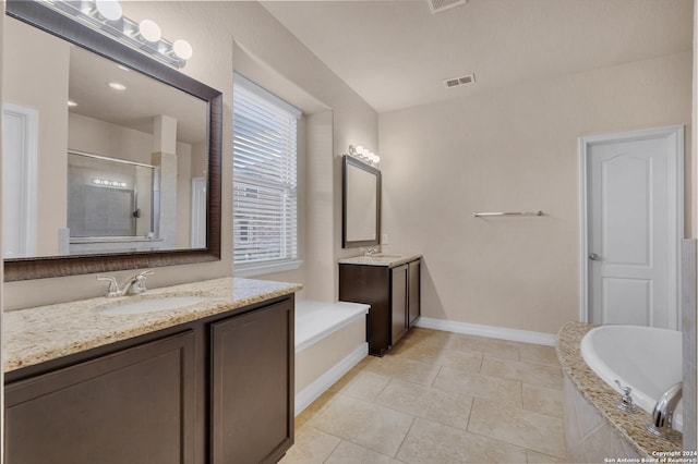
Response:
M5 387L5 463L193 463L194 333Z

